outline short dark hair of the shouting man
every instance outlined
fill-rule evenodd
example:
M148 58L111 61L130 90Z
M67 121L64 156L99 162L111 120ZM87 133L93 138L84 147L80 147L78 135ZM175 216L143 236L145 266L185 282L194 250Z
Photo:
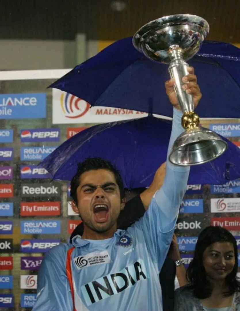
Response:
M107 169L114 174L116 183L120 190L120 199L125 197L125 191L123 187L122 177L119 171L110 163L102 158L87 158L85 161L78 163L78 169L71 181L71 192L70 195L72 200L77 204L77 188L80 184L80 177L83 173L89 172L95 169Z

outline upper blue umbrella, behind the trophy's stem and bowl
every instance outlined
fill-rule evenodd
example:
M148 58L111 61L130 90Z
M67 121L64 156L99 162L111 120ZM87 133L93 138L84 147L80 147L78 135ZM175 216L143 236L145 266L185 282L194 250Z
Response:
M203 94L196 113L202 118L240 118L240 49L206 41L188 63ZM92 106L139 110L172 117L164 82L168 66L139 53L132 38L119 40L76 66L50 87L73 94Z

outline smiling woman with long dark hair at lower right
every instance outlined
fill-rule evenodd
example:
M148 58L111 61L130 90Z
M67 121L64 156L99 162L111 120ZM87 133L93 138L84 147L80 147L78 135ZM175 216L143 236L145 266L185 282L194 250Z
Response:
M187 269L189 285L175 291L175 311L240 311L238 248L226 229L207 227Z

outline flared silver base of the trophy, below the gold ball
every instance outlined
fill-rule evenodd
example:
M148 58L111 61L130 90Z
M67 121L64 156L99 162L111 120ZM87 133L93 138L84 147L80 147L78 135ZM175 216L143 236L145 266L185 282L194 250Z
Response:
M217 133L196 128L178 136L168 159L180 166L199 165L218 158L227 148L228 144Z

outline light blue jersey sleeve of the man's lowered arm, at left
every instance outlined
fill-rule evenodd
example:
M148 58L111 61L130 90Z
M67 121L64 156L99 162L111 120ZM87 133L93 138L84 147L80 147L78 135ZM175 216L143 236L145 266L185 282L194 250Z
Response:
M58 245L45 254L38 271L37 301L32 311L73 310L65 246Z

